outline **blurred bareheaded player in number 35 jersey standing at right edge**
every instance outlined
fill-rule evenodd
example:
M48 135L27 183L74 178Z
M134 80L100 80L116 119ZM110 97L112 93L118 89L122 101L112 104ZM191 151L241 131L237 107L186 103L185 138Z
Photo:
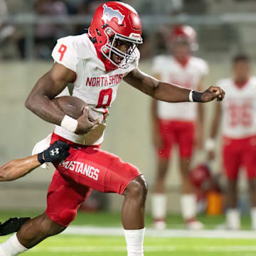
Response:
M250 73L247 55L233 58L232 71L232 78L218 81L226 91L226 99L216 105L206 147L209 158L214 159L215 137L221 121L223 169L227 178L226 228L240 228L238 171L244 167L250 193L252 229L256 230L256 78Z

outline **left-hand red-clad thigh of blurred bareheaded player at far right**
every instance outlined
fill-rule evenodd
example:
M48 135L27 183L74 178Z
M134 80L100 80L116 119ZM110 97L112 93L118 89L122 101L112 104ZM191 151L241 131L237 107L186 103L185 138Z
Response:
M240 150L236 149L236 145L223 144L222 156L225 176L230 180L236 180L238 178L239 168L242 164Z

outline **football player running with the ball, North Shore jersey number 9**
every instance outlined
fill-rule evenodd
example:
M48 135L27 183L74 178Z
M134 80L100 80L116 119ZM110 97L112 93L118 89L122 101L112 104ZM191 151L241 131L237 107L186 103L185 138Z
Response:
M95 11L88 33L60 38L53 49L53 67L43 75L26 100L26 107L56 124L51 143L62 140L70 145L70 156L56 171L48 188L47 209L28 220L17 234L0 245L0 255L18 255L50 235L56 235L74 220L80 204L92 188L124 196L122 224L129 256L142 256L144 208L147 186L142 173L132 164L100 149L110 105L117 87L129 85L167 102L208 102L222 100L224 92L210 87L205 92L161 82L138 68L142 43L142 24L137 12L127 4L110 1ZM79 119L65 115L53 105L57 95L69 95L67 85L74 82L73 96L84 100L95 114L87 111Z

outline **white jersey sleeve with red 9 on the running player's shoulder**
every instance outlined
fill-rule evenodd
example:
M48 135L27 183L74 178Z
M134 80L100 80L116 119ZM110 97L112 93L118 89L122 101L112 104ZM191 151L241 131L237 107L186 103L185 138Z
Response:
M53 60L76 72L78 53L72 40L72 36L60 38L53 48Z

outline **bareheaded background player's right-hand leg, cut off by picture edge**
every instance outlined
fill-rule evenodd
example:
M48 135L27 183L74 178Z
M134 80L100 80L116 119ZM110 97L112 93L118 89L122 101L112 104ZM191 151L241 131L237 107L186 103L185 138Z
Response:
M246 139L246 146L242 158L242 164L245 166L250 196L250 215L252 220L252 229L256 230L256 137Z

